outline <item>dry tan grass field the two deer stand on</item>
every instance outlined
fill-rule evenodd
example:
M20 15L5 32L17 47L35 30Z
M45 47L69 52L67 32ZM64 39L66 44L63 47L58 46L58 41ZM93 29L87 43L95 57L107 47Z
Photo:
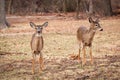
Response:
M97 31L93 40L94 65L81 65L71 60L78 54L77 28L89 26L88 20L56 16L8 16L13 27L0 31L0 80L119 80L120 79L120 17L102 19L104 31ZM30 40L34 30L29 22L49 25L43 31L45 69L32 75ZM82 57L82 54L81 54Z

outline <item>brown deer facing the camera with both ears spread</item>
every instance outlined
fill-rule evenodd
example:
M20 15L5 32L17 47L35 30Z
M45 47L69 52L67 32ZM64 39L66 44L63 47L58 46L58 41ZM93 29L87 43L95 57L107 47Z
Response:
M43 55L42 55L42 49L43 49L43 37L42 37L42 30L44 27L48 26L48 22L45 22L42 25L36 25L33 22L30 22L30 26L36 30L36 32L32 35L32 40L31 40L31 49L32 49L32 73L34 74L35 72L35 57L36 55L39 55L39 64L40 64L40 69L41 71L43 69Z

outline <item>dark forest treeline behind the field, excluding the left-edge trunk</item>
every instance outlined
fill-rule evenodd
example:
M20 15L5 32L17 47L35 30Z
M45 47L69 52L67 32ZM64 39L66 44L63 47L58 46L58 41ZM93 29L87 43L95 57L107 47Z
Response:
M19 15L75 12L77 9L86 12L90 1L93 11L101 16L111 16L120 9L120 0L5 0L5 10L7 14Z

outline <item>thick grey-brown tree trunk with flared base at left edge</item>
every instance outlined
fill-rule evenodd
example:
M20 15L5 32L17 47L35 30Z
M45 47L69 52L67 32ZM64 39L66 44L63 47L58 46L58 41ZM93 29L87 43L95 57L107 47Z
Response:
M0 0L0 29L7 28L8 26L5 15L5 0Z

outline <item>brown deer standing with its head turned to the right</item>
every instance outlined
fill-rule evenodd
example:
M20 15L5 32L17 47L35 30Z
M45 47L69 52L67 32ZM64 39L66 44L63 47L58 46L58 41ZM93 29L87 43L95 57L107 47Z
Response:
M99 24L98 18L94 21L91 17L89 17L90 28L87 29L86 27L79 27L77 30L77 39L79 41L79 54L78 60L80 60L80 52L81 49L83 51L83 60L82 65L86 63L86 46L90 49L90 57L91 57L91 64L93 64L93 56L92 56L92 41L95 35L96 30L103 31ZM81 48L82 47L82 48Z

